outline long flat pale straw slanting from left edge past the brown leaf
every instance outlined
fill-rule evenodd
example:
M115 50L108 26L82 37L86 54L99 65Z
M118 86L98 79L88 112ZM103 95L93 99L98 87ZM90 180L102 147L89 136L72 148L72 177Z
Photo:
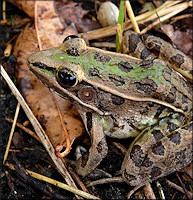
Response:
M39 124L36 117L33 115L31 109L29 108L29 106L25 102L24 98L22 97L22 95L19 93L18 89L15 87L15 85L13 84L11 79L9 78L8 74L6 73L6 71L4 70L2 65L0 65L0 71L1 71L1 75L6 80L11 91L13 92L14 96L16 97L18 102L21 104L21 106L22 106L24 112L26 113L29 121L31 122L32 126L34 127L35 132L37 133L38 137L42 141L42 144L44 145L45 149L49 153L51 159L53 160L58 172L64 177L64 179L66 180L68 185L76 188L76 185L75 185L72 177L68 173L66 167L64 166L64 163L61 161L60 158L56 157L55 150L54 150L50 140L48 139L48 136L45 134L43 128Z

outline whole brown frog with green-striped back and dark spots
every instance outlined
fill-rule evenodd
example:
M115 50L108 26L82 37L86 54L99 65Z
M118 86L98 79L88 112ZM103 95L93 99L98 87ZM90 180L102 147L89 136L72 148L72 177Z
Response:
M133 31L123 35L123 52L68 36L60 47L30 55L28 66L80 113L91 147L77 172L97 168L108 153L106 137L134 138L121 171L139 188L192 162L192 60L159 37Z

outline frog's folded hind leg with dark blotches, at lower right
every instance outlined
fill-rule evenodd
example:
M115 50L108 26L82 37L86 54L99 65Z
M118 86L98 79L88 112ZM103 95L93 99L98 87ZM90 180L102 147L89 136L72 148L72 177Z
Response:
M158 130L157 133L162 134ZM122 165L123 178L128 184L142 186L191 163L192 122L166 135L159 136L154 144L150 137L144 138L142 145L136 141L129 150Z

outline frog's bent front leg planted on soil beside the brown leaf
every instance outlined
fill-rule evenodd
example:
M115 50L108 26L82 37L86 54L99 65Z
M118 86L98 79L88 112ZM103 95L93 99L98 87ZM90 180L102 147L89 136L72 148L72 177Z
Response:
M99 116L95 113L87 112L82 117L91 137L91 147L89 149L89 153L85 153L80 159L77 160L75 165L77 173L85 176L96 169L103 158L106 157L108 147Z

